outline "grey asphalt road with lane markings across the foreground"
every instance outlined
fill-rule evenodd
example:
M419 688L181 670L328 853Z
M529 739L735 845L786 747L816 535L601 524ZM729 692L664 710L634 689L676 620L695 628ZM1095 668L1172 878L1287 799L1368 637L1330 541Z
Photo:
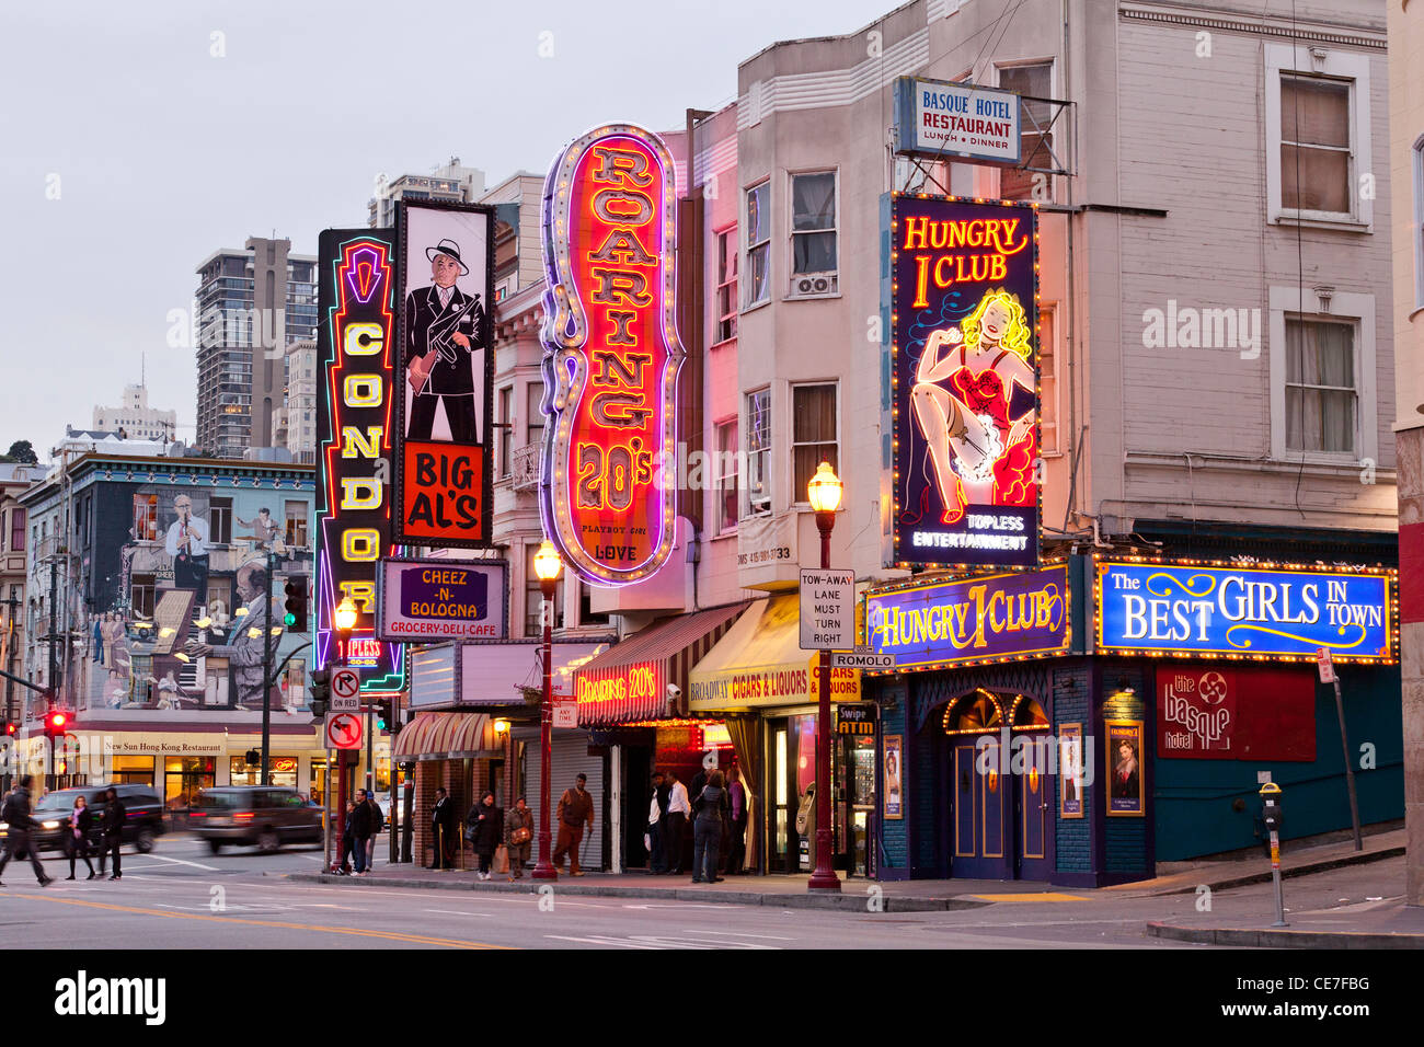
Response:
M380 845L384 845L384 838ZM383 853L383 852L382 852ZM1203 949L1142 933L1148 920L1200 922L1193 895L1141 897L1055 890L941 913L847 913L775 906L328 886L286 880L320 868L319 848L214 856L188 836L150 855L124 855L118 882L57 879L40 889L11 863L0 889L0 936L20 947L64 949ZM46 862L68 875L58 856ZM373 880L384 862L377 860ZM1290 902L1364 902L1378 865L1290 882ZM1269 886L1216 892L1218 916L1269 912ZM1354 897L1358 895L1358 897ZM543 902L543 903L541 903Z

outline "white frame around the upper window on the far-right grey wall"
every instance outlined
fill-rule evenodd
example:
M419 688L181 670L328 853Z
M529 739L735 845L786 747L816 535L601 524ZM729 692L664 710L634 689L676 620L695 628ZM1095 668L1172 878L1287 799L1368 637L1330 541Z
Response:
M1327 50L1323 60L1314 60L1306 53L1304 64L1317 68L1300 68L1294 44L1265 46L1266 57L1266 221L1272 225L1344 228L1374 232L1374 201L1360 195L1361 164L1370 165L1373 157L1370 127L1370 56L1341 50ZM1346 81L1350 88L1350 160L1347 181L1350 189L1350 211L1306 211L1287 208L1282 204L1282 123L1280 90L1282 74L1303 78Z

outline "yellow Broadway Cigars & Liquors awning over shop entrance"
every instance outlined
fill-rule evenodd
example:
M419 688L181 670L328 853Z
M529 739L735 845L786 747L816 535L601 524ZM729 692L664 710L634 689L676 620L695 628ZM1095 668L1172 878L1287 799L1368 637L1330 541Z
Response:
M820 701L817 658L800 648L799 594L759 600L692 670L689 709L701 715ZM830 699L860 701L860 670L832 670Z

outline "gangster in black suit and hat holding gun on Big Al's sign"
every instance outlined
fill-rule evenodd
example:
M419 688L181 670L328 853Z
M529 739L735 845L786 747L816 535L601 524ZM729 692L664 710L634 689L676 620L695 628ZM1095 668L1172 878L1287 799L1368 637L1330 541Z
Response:
M441 239L426 248L429 288L406 296L406 380L410 383L410 426L406 436L429 440L436 403L443 403L456 443L480 443L476 417L476 373L484 376L484 306L456 279L470 269L460 261L460 245Z

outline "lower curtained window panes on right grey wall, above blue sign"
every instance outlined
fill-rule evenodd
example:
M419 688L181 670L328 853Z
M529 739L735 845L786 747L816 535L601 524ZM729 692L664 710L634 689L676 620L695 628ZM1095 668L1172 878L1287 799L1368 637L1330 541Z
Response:
M1286 449L1356 453L1354 325L1286 321Z

